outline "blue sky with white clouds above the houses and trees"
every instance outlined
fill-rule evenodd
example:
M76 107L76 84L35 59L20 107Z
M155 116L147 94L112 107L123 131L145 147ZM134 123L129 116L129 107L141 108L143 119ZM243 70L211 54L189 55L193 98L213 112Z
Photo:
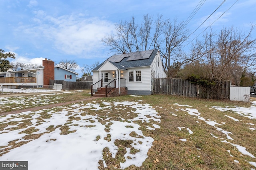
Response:
M214 31L231 26L248 31L256 24L256 0L0 0L0 49L16 54L12 62L101 63L112 55L101 39L114 33L115 23L132 16L140 21L145 14L186 21L197 6L187 25L191 33L196 30L188 43L212 23Z

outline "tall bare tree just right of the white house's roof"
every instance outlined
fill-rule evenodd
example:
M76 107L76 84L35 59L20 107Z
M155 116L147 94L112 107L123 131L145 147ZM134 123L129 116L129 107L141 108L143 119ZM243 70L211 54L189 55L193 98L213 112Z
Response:
M156 32L154 37L155 48L160 50L164 69L167 70L168 77L175 77L175 70L179 70L182 65L195 60L182 52L182 43L186 40L188 30L185 29L184 22L178 20L162 20L159 16L156 21Z

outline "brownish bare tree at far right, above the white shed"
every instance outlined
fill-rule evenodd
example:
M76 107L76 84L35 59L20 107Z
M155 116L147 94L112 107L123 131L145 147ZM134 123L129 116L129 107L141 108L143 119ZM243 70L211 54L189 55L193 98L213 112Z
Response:
M197 41L192 46L192 55L200 57L206 76L217 82L232 79L239 84L238 70L242 69L245 75L246 70L256 65L256 39L250 40L253 29L252 26L249 33L243 34L233 27L223 28L219 34L211 31L202 41Z

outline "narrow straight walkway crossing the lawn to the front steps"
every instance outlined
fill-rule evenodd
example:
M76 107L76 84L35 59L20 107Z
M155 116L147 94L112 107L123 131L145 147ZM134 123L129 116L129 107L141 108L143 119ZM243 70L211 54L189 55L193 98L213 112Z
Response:
M33 95L37 95L33 94ZM45 93L43 93L45 94ZM31 94L30 94L31 95ZM7 95L5 95L6 97ZM17 96L17 94L16 94ZM21 95L21 96L25 96L25 95ZM28 96L28 95L26 95ZM0 96L0 97L4 97L4 96ZM81 100L74 100L74 101L70 101L70 102L65 102L65 103L56 103L56 104L50 104L50 105L45 105L45 106L38 106L38 107L32 107L32 108L28 108L28 109L20 109L20 110L14 110L14 111L8 111L5 113L0 113L0 116L2 115L9 115L9 114L17 114L17 113L22 113L22 112L26 112L26 111L38 111L38 110L42 110L42 109L51 109L53 107L57 107L57 106L64 106L64 105L68 105L68 104L73 104L73 103L79 103L79 102L83 102L83 101L87 101L87 100L94 100L97 99L99 97L91 97L91 98L85 98L85 99L81 99Z

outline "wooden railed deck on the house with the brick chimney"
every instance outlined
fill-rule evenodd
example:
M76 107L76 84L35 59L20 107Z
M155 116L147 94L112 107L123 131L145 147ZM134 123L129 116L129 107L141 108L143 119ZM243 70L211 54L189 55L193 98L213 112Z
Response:
M36 85L36 77L4 77L0 78L1 85L19 85L31 84Z

